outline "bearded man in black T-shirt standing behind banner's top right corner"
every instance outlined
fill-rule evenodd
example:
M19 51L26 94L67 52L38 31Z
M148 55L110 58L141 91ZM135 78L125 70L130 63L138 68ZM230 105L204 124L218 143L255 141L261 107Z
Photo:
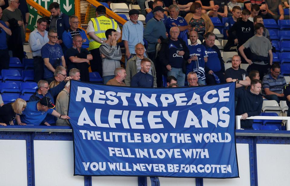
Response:
M239 67L241 63L241 57L239 55L234 55L232 58L232 67L227 69L224 73L226 82L236 82L236 88L239 89L250 86L251 84L247 72Z

